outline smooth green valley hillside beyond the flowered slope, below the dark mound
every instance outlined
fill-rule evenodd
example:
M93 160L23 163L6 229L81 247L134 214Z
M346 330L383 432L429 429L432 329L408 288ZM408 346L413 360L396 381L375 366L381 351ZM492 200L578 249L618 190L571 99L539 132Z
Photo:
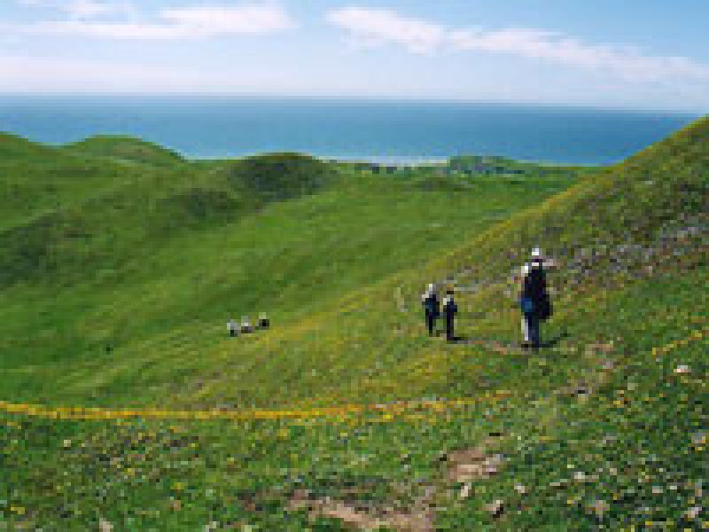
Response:
M105 173L126 168L102 164ZM55 168L80 180L73 160ZM139 179L82 191L89 200L78 194L0 232L8 250L0 276L8 285L0 296L4 396L83 402L93 388L98 403L160 402L165 390L149 391L144 364L168 362L157 366L160 385L198 371L190 364L210 364L227 316L267 311L283 330L569 183L530 179L510 199L495 179L464 194L422 193L354 174L249 214L253 196L230 189L219 167L138 168ZM27 253L27 234L35 253Z

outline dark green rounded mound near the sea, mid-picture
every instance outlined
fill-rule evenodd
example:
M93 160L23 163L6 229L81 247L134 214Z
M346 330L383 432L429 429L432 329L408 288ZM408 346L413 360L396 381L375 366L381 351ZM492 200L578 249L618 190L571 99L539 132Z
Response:
M228 169L232 185L261 200L290 200L317 192L333 170L322 160L300 153L269 153L239 160Z

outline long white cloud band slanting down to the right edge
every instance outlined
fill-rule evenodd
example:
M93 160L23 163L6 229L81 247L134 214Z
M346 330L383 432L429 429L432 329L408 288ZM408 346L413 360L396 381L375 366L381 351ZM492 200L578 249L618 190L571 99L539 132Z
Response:
M345 29L355 42L370 46L398 43L412 53L484 51L612 73L623 79L653 81L681 77L709 81L709 66L683 57L643 54L627 46L583 43L568 35L540 29L498 30L451 28L402 17L388 10L346 7L327 13L331 24Z

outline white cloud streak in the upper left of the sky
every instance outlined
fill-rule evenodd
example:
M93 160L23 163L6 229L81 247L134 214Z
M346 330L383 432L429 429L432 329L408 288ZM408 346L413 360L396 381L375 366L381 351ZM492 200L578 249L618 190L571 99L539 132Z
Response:
M157 20L136 20L130 4L75 0L63 8L69 20L43 20L4 29L41 35L84 35L113 39L174 40L218 35L267 34L295 27L278 4L195 5L164 9ZM104 20L109 14L133 13L133 20Z

